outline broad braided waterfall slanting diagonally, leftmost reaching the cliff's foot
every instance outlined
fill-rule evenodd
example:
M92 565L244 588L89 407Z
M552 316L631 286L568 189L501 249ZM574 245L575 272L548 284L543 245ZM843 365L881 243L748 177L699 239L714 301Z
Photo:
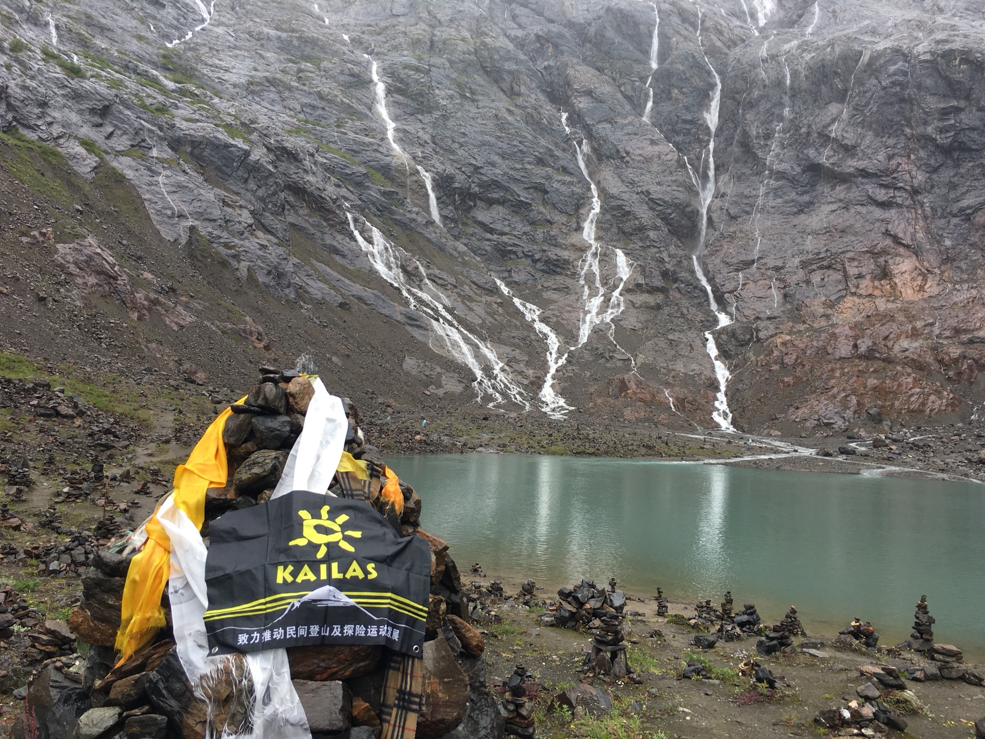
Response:
M402 249L390 243L379 229L368 222L366 225L369 226L372 240L363 237L356 226L356 216L348 210L348 207L346 217L353 237L376 273L396 288L411 309L418 310L427 317L434 335L443 343L444 352L455 362L472 370L476 377L472 386L479 395L479 401L489 395L492 398L489 405L494 406L502 403L503 396L506 396L507 399L529 411L531 405L527 400L527 393L510 377L505 364L496 356L492 345L470 333L448 312L445 305L450 302L427 279L424 265L414 260L421 271L425 286L437 294L436 299L408 282L404 276L404 266L400 257ZM434 348L433 345L431 348ZM489 373L484 367L484 362L490 367Z

